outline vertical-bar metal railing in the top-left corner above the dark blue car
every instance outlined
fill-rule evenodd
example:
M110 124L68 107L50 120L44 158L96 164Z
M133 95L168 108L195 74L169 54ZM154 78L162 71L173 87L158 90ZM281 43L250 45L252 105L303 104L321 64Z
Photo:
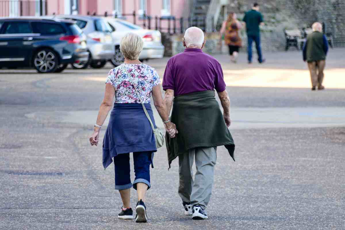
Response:
M0 17L43 16L47 7L47 0L0 1Z

